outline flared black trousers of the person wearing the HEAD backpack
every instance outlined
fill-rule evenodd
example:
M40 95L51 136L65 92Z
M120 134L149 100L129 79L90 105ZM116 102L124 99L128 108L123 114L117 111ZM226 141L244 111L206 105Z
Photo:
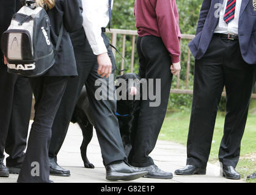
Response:
M49 183L48 149L51 127L67 87L68 77L30 78L35 96L35 117L18 177L20 183Z

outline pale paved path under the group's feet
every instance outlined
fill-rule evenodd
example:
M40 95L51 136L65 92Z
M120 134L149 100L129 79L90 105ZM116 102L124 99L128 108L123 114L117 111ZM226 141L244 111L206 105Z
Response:
M64 168L70 169L70 177L50 176L55 183L104 183L105 169L102 163L100 146L98 144L96 133L93 132L93 138L88 146L87 157L90 162L95 165L95 169L86 169L80 157L80 145L82 142L82 132L77 124L70 124L64 145L58 155L58 163ZM169 142L159 140L151 154L155 164L164 171L174 172L175 169L186 165L186 147ZM244 180L229 180L220 176L219 166L208 163L207 174L205 176L176 176L173 179L147 179L141 178L134 180L138 183L233 183L244 182ZM10 174L9 178L0 178L0 183L16 182L18 176Z

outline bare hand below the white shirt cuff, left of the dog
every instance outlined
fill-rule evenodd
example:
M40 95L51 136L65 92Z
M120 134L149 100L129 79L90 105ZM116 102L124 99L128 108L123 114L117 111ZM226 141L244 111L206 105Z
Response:
M98 71L101 77L109 77L109 74L112 73L112 63L109 58L108 53L103 53L97 56L98 61Z

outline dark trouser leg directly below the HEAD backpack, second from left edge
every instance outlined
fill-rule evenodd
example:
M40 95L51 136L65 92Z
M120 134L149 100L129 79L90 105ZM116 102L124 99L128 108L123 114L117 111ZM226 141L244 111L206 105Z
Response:
M23 163L27 143L27 132L31 116L32 89L27 78L19 76L15 83L12 117L5 144L7 166Z

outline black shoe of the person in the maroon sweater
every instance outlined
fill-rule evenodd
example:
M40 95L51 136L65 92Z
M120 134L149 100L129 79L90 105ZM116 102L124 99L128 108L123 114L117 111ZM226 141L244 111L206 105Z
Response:
M144 167L144 170L148 171L148 174L144 176L147 178L172 179L172 177L174 177L171 172L162 171L156 165L150 165L150 166Z

